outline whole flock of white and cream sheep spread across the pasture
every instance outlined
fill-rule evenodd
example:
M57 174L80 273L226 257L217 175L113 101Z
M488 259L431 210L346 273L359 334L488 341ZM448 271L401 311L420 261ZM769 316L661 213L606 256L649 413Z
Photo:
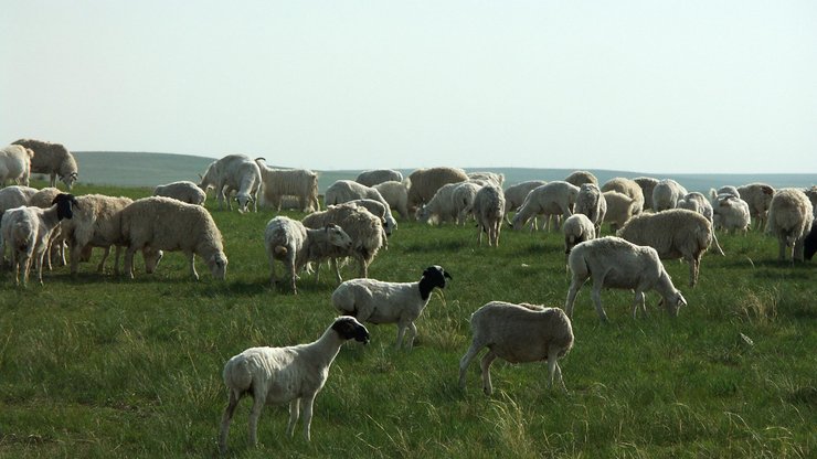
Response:
M51 175L51 186L29 188L32 172ZM687 190L673 180L616 178L601 184L586 171L563 181L530 181L507 189L503 177L492 172L466 173L457 168L418 169L407 178L393 170L361 173L357 180L339 180L325 193L325 207L318 199L318 175L309 170L274 169L264 159L229 154L213 161L199 183L174 182L157 186L155 195L132 201L127 198L88 194L73 196L55 186L59 178L71 190L78 177L73 156L61 145L19 140L0 154L0 254L10 249L15 281L23 284L34 265L42 284L43 266L66 264L70 254L72 275L78 263L87 260L93 247L105 250L97 269L102 271L112 247L116 249L114 273L119 273L119 253L125 248L125 273L134 276L137 250L148 273L158 266L165 252L182 252L190 274L198 279L198 255L213 277L224 279L227 258L222 235L203 207L206 191L213 189L219 209L257 211L258 205L279 211L295 203L309 212L298 221L275 216L264 231L265 250L273 288L282 288L276 265L286 267L287 289L297 293L297 280L305 273L319 275L330 261L339 287L331 301L342 316L323 335L309 344L287 348L252 348L232 357L224 366L229 404L219 436L226 449L230 423L244 395L254 398L250 415L250 442L256 442L258 416L263 406L289 404L288 435L299 416L309 439L315 396L323 386L329 366L341 344L350 339L369 341L361 322L395 323L397 348L411 349L417 334L415 321L435 288L444 288L452 276L441 266L429 266L418 281L392 282L368 278L368 267L397 220L461 225L476 221L477 239L486 233L489 246L498 246L500 230L507 224L516 231L553 226L564 235L566 266L572 274L564 310L535 305L490 301L470 319L473 342L463 356L459 384L465 386L471 360L484 349L482 388L492 391L490 365L496 357L509 362L547 361L549 381L555 378L566 391L558 360L573 345L571 317L581 287L592 279L592 300L600 318L605 288L632 289L633 314L646 312L645 293L656 290L671 316L687 305L664 268L664 259L689 263L689 285L694 286L702 254L712 245L723 255L715 228L724 231L755 227L779 241L779 258L793 247L793 260L810 259L817 250L814 214L817 188L774 190L762 183L723 186L709 196ZM234 196L234 198L233 198ZM512 218L507 215L512 213ZM601 237L603 223L615 235ZM351 258L359 264L359 278L342 281L339 264ZM406 335L406 331L408 334Z

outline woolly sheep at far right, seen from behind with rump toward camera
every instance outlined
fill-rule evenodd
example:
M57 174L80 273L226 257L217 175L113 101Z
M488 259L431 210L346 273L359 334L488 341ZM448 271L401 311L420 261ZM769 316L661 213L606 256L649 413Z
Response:
M786 247L792 247L792 261L804 260L804 238L811 230L814 206L803 190L777 190L768 205L766 233L777 237L779 259L786 259Z

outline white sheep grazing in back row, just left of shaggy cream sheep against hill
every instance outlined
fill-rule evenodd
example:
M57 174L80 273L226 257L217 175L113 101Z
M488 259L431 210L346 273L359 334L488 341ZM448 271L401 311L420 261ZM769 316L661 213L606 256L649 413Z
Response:
M199 188L206 192L211 186L215 189L219 210L224 209L225 199L227 200L227 209L233 210L229 196L232 191L235 191L240 213L247 212L250 203L253 204L253 211L258 212L261 170L258 164L248 156L227 154L217 161L211 162L204 175L201 175Z

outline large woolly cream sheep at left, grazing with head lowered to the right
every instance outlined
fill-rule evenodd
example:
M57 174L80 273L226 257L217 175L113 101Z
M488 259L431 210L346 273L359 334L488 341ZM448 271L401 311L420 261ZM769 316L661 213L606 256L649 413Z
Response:
M188 257L190 274L199 280L195 255L204 259L210 273L224 280L227 257L219 227L201 205L187 204L172 198L150 196L136 200L120 213L121 241L125 250L125 274L134 278L134 253L142 250L148 261L156 250L181 250ZM158 263L158 259L156 259ZM156 266L146 266L151 273Z

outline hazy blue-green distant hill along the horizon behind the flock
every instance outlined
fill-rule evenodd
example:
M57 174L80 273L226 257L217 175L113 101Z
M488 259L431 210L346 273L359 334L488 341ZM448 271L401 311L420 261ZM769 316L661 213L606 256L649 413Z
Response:
M76 151L79 164L79 181L94 184L119 186L156 186L177 180L197 182L213 158L172 153L145 153L121 151ZM273 166L273 164L270 164ZM276 164L274 167L285 167ZM401 169L404 175L414 169ZM573 169L526 169L526 168L473 168L470 171L492 171L505 174L506 185L526 180L563 180ZM645 174L640 172L590 169L598 181L604 183L614 177L650 175L658 179L670 178L680 182L689 191L707 192L710 188L741 185L764 182L775 188L810 186L817 184L817 174ZM320 175L320 193L336 180L353 180L360 170L316 170Z

